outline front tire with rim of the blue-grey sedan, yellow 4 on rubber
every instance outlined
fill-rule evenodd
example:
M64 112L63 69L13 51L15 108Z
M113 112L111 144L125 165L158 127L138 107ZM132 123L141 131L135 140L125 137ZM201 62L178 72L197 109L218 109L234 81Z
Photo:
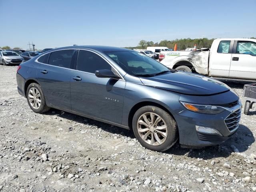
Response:
M153 116L153 122L151 121L151 114ZM148 125L149 128L145 126L146 121L144 121L145 119L143 115L146 116L148 122L146 125ZM162 118L162 120L157 122L159 117ZM153 124L150 125L151 122ZM156 122L155 126L154 122ZM163 129L164 127L166 127L165 130ZM178 140L178 127L176 121L170 114L168 114L168 112L156 106L144 106L138 109L132 119L132 129L140 144L153 151L160 152L168 150ZM165 135L165 137L163 135ZM142 137L144 137L144 139L142 139Z

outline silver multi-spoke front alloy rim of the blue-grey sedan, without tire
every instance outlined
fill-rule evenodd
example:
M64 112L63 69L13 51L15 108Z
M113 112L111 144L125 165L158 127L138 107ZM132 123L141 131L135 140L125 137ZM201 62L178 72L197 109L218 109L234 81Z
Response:
M153 146L163 144L168 134L163 118L152 112L146 112L140 116L137 129L142 140Z

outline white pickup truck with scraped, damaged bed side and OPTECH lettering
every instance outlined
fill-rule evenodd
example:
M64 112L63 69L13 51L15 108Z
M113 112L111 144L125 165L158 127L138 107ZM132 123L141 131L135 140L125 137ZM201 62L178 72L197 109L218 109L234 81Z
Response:
M209 49L161 51L159 61L176 70L256 80L256 39L215 39Z

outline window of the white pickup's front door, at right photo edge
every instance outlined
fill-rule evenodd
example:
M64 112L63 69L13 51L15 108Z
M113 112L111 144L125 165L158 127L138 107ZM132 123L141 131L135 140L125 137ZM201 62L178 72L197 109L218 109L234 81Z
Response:
M256 55L256 43L251 41L238 41L236 53Z

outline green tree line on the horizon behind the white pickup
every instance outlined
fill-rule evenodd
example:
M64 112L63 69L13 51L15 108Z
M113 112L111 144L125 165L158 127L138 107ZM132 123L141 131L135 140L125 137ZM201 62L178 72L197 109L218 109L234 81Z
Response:
M251 37L255 39L255 37ZM126 47L128 49L146 49L147 47L168 47L173 49L175 44L177 44L178 50L185 50L188 47L193 48L196 44L197 48L211 48L214 39L208 38L197 38L197 39L175 39L175 40L162 40L160 42L152 42L146 40L140 40L138 46L136 47Z

